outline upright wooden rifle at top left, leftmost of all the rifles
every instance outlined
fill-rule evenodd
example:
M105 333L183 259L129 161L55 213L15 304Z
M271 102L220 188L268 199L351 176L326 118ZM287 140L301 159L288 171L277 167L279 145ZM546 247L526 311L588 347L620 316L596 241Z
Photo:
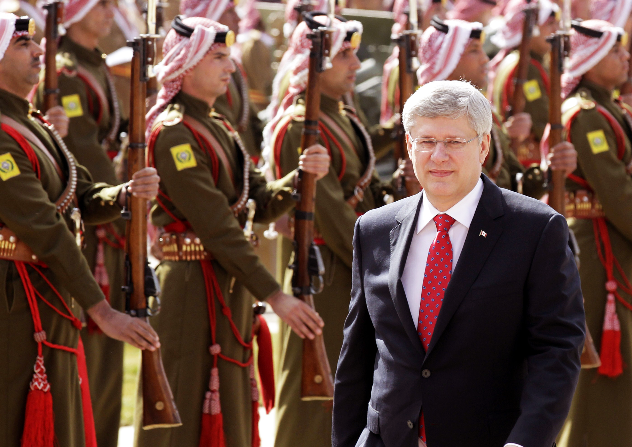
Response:
M44 113L59 105L57 83L57 39L59 25L64 11L63 1L52 1L44 5L46 9L46 54L44 55Z

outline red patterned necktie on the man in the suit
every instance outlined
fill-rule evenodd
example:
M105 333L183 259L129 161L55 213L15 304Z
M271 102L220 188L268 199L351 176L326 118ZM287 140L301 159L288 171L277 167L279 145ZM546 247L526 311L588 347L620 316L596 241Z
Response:
M447 214L434 217L437 235L428 249L426 269L423 273L422 301L419 304L419 319L417 333L422 340L423 349L428 350L432 333L437 325L443 296L446 294L447 284L452 277L452 244L447 233L454 222L454 218ZM419 419L419 437L426 442L426 430L423 426L423 412Z

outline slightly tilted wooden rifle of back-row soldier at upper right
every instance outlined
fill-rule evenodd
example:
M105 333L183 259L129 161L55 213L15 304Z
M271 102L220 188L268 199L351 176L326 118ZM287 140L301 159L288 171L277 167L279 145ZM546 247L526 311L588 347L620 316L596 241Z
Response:
M520 47L518 47L518 66L516 66L516 75L513 79L514 91L511 101L511 105L507 106L507 116L512 116L525 111L525 82L528 76L529 64L531 62L531 38L533 36L533 28L535 28L535 21L538 18L538 6L537 3L532 3L532 0L527 0L527 7L525 8L525 21L522 27L522 40ZM511 140L511 150L517 155L520 148L521 141L514 138Z

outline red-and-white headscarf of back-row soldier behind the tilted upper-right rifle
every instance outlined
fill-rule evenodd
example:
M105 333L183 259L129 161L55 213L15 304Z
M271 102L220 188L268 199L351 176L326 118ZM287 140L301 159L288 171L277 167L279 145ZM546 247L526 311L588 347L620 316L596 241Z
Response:
M531 4L536 1L532 0ZM538 25L544 25L552 13L559 11L559 6L550 0L538 0ZM522 28L525 21L523 11L529 6L526 0L510 0L505 9L502 27L490 40L500 49L512 49L520 45L522 40Z

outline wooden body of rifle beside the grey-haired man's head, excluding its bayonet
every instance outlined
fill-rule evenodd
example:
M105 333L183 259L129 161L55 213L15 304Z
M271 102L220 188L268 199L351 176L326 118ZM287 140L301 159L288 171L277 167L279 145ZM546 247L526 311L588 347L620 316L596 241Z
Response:
M413 58L417 56L417 32L406 30L401 33L397 39L399 47L399 114L404 110L404 103L415 89L415 69L413 69ZM396 154L404 161L410 160L408 157L408 147L406 146L406 132L404 124L398 124L398 133L396 141ZM399 179L400 188L406 189L407 196L414 196L422 190L419 182L414 180L406 180L403 177ZM403 188L401 188L403 186Z

